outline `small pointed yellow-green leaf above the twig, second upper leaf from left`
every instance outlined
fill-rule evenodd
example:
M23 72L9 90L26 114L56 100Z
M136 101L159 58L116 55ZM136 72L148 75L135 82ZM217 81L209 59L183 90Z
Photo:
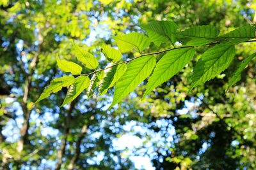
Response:
M81 61L88 69L96 69L99 66L98 60L92 55L92 53L86 52L83 48L74 45L75 55L77 60Z

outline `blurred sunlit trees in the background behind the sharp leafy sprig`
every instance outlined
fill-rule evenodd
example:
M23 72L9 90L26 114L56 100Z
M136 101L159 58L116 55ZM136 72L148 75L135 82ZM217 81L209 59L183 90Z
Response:
M139 87L118 109L106 110L111 90L60 108L63 89L33 107L52 78L62 76L56 55L75 59L72 41L101 59L99 46L112 44L111 34L140 32L138 26L150 20L227 32L256 22L254 1L1 1L0 7L3 169L134 169L130 157L144 154L156 169L255 168L255 59L225 92L232 69L253 53L253 43L236 46L234 67L189 95L194 62L150 97L141 100L145 88ZM164 48L150 45L148 52ZM113 140L126 133L144 145L117 150Z

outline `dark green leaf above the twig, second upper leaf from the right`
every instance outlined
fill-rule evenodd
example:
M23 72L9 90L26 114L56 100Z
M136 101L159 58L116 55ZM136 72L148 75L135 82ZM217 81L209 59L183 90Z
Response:
M176 38L181 41L183 45L193 46L211 43L215 41L214 38L216 38L218 34L218 29L212 25L195 26L175 33Z

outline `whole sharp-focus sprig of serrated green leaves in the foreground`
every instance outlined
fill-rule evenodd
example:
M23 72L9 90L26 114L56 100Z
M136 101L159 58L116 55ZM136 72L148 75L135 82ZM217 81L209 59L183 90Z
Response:
M76 99L85 89L87 89L88 97L91 97L97 87L99 87L99 95L106 94L109 88L115 87L111 108L120 103L125 96L148 78L143 95L145 97L153 89L179 73L193 59L195 48L209 45L210 48L196 62L191 76L190 92L196 85L211 80L227 69L234 59L235 45L255 38L253 25L243 25L220 36L218 29L212 25L193 26L182 31L174 22L154 20L146 25L141 25L141 28L147 32L147 36L138 32L113 36L118 50L110 45L101 47L101 52L111 62L104 69L97 69L99 61L93 57L92 53L74 45L77 60L92 72L82 74L83 67L79 64L57 58L61 71L79 76L77 78L73 76L55 78L51 81L51 85L45 88L36 103L49 97L52 93L58 92L62 87L70 86L61 106ZM178 46L177 42L182 45ZM148 48L150 43L154 43L156 46L161 43L169 43L172 48L155 53L141 53ZM122 53L126 52L139 52L140 56L120 61ZM157 61L156 55L164 52L166 54ZM239 64L230 78L229 87L239 81L241 72L253 57L255 57L255 53ZM89 76L92 76L91 80Z

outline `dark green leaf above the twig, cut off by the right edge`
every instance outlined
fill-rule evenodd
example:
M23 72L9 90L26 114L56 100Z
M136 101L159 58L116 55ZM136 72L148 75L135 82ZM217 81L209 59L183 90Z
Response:
M228 32L217 38L220 43L236 45L255 38L255 27L251 25L243 25L234 31Z

